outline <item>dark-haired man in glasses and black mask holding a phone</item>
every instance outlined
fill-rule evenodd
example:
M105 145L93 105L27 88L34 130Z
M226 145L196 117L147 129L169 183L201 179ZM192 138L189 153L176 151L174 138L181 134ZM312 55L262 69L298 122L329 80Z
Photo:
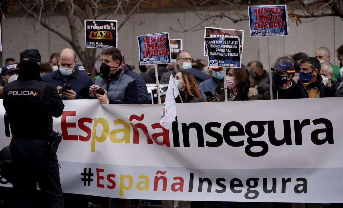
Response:
M120 69L123 54L118 48L105 48L101 51L100 78L89 89L90 96L103 104L138 104L138 87L134 78ZM104 94L95 90L103 88Z

